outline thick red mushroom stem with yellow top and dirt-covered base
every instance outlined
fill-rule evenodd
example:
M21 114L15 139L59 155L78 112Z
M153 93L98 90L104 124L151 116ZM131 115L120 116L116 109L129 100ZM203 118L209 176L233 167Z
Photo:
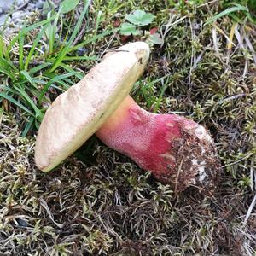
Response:
M219 167L205 128L176 114L148 113L127 96L96 136L176 192L204 187Z

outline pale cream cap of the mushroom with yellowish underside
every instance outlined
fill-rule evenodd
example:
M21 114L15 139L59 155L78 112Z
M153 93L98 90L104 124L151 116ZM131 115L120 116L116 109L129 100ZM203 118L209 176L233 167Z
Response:
M38 131L35 162L40 170L49 172L103 125L142 75L148 57L148 44L125 44L55 99Z

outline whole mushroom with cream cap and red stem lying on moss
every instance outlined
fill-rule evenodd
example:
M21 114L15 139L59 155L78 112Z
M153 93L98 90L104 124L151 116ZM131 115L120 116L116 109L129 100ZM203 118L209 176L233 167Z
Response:
M39 169L49 172L96 133L176 192L212 184L219 160L208 131L176 114L148 113L129 96L148 57L148 44L125 44L55 99L38 131Z

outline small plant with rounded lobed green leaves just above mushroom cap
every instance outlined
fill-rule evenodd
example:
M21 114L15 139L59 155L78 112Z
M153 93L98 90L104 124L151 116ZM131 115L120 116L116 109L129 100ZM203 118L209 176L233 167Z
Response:
M140 29L142 26L147 26L153 22L154 15L137 9L132 14L126 15L125 20L129 22L122 24L119 33L124 36L138 36L143 34L143 31ZM144 32L148 44L163 44L163 39L160 38L160 34L156 30L157 28L153 28L150 32Z

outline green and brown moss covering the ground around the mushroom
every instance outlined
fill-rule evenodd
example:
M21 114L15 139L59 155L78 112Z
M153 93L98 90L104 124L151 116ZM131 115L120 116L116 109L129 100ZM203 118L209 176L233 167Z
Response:
M199 195L190 189L175 197L168 185L158 183L149 172L95 137L54 172L39 172L33 161L36 127L32 126L30 137L20 137L29 116L2 100L8 111L0 122L0 254L255 253L255 215L251 214L247 223L244 219L255 194L256 63L253 52L249 47L242 49L237 38L247 37L256 49L256 30L250 22L239 25L235 45L227 49L224 34L230 36L234 20L218 20L216 25L224 34L215 32L216 26L203 26L224 8L223 1L219 2L94 1L84 33L77 40L79 45L95 36L99 10L98 33L113 29L115 20L123 22L135 9L156 15L145 30L158 26L165 44L152 48L148 69L132 96L143 108L186 115L211 131L224 166L214 193ZM72 30L76 18L67 14L64 21L67 26L63 29L70 36L67 27ZM28 35L26 42L32 44L29 38L32 41L34 35ZM244 46L247 43L243 40ZM119 44L122 38L113 33L84 48L90 56L101 56L102 51ZM56 49L59 46L61 42ZM18 56L12 55L16 68ZM42 64L34 58L29 70ZM37 79L44 81L44 75L54 79L68 73L68 67L84 75L94 62L63 61L65 65L55 73L49 75L43 68L32 76L39 83ZM41 107L44 109L59 89L66 90L65 84L78 79L76 75L61 79L61 84L47 92ZM12 88L7 74L1 73L0 81ZM23 84L32 88L27 81ZM32 96L32 91L27 91ZM19 95L15 99L26 104Z

